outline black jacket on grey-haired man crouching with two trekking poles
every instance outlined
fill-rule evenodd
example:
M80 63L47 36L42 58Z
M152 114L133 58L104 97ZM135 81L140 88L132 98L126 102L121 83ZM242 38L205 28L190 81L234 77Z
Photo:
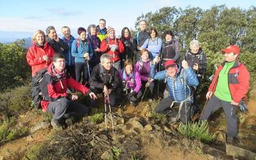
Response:
M101 64L96 65L89 79L90 86L102 89L104 85L108 89L115 90L118 86L121 86L120 79L118 77L118 70L115 67L111 67L107 73Z

